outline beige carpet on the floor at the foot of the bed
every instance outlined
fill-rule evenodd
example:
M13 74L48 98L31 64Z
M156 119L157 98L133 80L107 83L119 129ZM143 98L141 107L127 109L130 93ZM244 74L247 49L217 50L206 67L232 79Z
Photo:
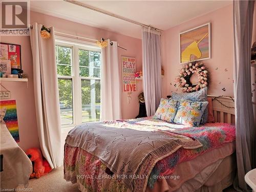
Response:
M71 184L63 179L63 167L52 170L48 175L39 179L30 179L28 188L32 188L33 192L79 192L77 184ZM232 187L228 187L223 192L235 191Z

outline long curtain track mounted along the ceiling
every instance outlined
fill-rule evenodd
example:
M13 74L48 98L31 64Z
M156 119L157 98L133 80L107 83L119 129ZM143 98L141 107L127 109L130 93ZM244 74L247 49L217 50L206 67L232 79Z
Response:
M142 27L151 27L151 28L153 28L153 29L155 29L157 31L160 31L160 32L163 31L163 30L158 29L156 27L153 27L153 26L150 26L150 25L145 25L145 24L136 22L135 20L132 20L132 19L129 19L129 18L126 18L126 17L122 17L122 16L119 16L119 15L113 14L111 12L107 12L107 11L104 11L102 9L98 9L98 8L95 8L95 7L86 5L86 4L79 3L79 2L77 2L75 0L63 0L63 1L71 3L71 4L74 4L74 5L77 5L77 6L80 6L80 7L83 7L83 8L90 9L90 10L93 10L93 11L96 11L96 12L99 12L99 13L102 13L102 14L105 14L105 15L109 15L109 16L112 16L112 17L115 17L115 18L118 18L118 19L121 19L121 20L124 20L125 22L129 22L129 23L132 23L132 24L135 24L135 25L139 25L139 26L142 26Z

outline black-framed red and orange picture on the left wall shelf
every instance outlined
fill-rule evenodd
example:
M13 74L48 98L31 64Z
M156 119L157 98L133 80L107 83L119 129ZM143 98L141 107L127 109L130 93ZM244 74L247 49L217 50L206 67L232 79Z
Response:
M11 70L22 70L21 46L16 44L0 43L0 59L10 60Z

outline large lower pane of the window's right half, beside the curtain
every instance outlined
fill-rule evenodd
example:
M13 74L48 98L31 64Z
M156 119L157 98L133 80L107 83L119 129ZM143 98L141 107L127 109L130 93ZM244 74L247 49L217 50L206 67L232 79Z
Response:
M99 121L100 80L81 80L82 122Z

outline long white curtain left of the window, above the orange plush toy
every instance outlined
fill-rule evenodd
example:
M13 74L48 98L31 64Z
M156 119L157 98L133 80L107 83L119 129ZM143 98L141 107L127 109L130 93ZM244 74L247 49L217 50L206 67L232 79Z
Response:
M42 155L52 168L61 166L61 123L54 28L51 38L40 36L42 25L33 24L30 42L33 57L33 80L37 132Z

